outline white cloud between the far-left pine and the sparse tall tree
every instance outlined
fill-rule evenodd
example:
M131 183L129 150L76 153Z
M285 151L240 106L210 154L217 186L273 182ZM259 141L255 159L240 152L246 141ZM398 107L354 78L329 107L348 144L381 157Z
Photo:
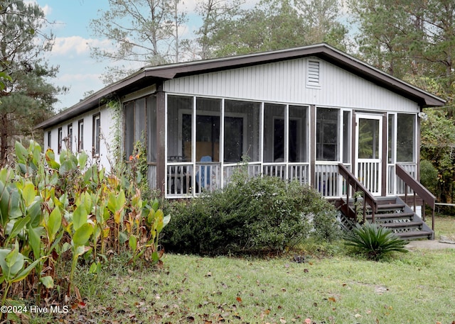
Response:
M93 38L82 38L81 36L55 38L53 55L84 55L90 52L90 46L100 48L110 47L109 40L97 40Z

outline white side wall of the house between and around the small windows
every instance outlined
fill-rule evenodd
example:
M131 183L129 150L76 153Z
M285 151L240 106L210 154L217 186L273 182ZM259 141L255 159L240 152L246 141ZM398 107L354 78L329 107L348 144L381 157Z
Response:
M58 161L60 154L58 153L58 128L62 128L63 138L68 135L68 125L73 124L73 152L77 151L77 138L79 135L78 124L79 121L84 121L84 136L83 136L83 150L89 156L89 159L92 158L92 146L93 146L93 116L97 113L100 113L100 123L101 123L101 134L102 139L100 140L100 164L103 167L109 169L109 152L107 150L107 145L112 144L112 111L102 106L101 108L96 108L88 113L77 116L76 118L65 121L65 123L60 123L53 126L52 128L46 128L44 130L44 150L48 149L48 132L51 132L51 146L52 150L55 153L55 160ZM65 143L62 143L62 150L67 150Z

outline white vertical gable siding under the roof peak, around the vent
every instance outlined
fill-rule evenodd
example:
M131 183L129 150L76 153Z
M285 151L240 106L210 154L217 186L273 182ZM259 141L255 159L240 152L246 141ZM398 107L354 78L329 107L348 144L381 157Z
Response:
M317 59L302 58L171 79L164 83L164 91L373 111L419 111L414 101L323 60L319 60L321 86L306 86L308 60Z

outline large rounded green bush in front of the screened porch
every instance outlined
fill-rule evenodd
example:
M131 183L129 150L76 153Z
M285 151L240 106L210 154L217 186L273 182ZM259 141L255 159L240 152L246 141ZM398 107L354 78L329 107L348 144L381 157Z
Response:
M309 186L277 177L237 177L223 191L171 203L166 250L203 255L280 252L309 235L338 237L336 211Z

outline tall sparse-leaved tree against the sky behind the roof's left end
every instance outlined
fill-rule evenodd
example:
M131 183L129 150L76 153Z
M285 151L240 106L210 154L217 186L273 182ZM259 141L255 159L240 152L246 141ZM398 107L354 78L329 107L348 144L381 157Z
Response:
M106 84L137 69L131 63L141 67L179 61L179 29L186 21L186 13L178 9L180 2L109 0L109 8L98 11L99 17L92 19L90 28L94 35L109 40L111 48L92 47L92 57L116 64L107 68Z

